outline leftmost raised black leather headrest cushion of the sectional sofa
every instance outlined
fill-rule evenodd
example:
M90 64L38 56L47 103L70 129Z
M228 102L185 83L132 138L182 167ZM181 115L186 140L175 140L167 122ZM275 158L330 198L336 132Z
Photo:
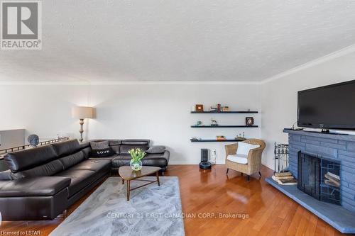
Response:
M15 173L48 163L57 157L58 155L55 153L53 146L45 145L18 152L11 152L6 154L4 159L6 165L11 169L11 172Z

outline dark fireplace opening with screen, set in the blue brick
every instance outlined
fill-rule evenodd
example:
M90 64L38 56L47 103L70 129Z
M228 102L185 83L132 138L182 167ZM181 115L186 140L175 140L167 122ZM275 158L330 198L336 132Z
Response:
M340 162L298 152L297 188L319 201L341 205Z

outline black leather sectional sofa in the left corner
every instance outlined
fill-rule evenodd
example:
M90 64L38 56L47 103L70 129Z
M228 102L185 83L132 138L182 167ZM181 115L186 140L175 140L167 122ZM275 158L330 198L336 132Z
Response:
M99 141L99 140L95 140ZM109 140L114 155L90 157L89 142L77 140L6 154L9 171L0 173L3 220L52 220L112 172L129 165L133 147L148 150L149 140ZM169 152L147 154L143 165L165 171Z

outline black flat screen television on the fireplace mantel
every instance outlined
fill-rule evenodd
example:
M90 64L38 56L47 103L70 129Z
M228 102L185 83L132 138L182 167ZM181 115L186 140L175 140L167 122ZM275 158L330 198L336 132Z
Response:
M355 80L298 91L297 125L355 130Z

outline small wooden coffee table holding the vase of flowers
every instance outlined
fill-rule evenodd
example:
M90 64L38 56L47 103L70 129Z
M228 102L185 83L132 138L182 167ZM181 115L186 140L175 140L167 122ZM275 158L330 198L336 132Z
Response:
M122 178L122 184L124 184L124 181L126 180L127 182L127 201L129 201L129 193L134 190L134 189L139 189L143 186L146 186L148 184L153 184L155 182L158 182L158 186L160 186L160 181L159 181L159 171L160 167L142 167L141 170L138 171L133 171L131 167L125 166L125 167L119 167L119 176ZM147 180L147 179L138 179L144 176L148 176L151 174L156 175L156 180ZM149 182L148 184L143 184L142 186L138 186L136 188L131 189L131 181L132 180L137 180L137 181L146 181Z

